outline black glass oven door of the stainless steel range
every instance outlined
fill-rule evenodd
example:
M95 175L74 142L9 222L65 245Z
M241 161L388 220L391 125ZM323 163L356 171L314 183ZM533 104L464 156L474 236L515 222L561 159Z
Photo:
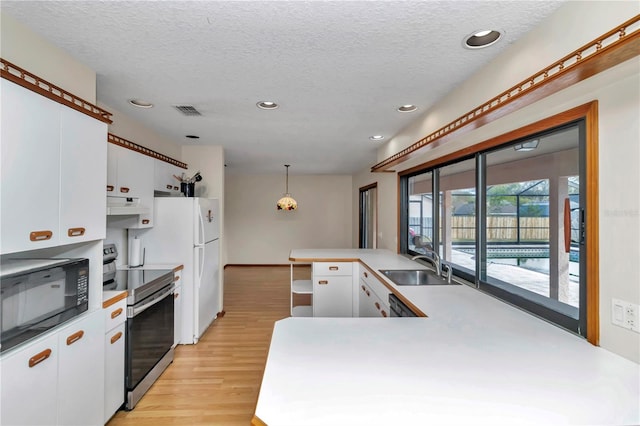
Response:
M126 377L133 390L173 346L174 286L127 309Z

